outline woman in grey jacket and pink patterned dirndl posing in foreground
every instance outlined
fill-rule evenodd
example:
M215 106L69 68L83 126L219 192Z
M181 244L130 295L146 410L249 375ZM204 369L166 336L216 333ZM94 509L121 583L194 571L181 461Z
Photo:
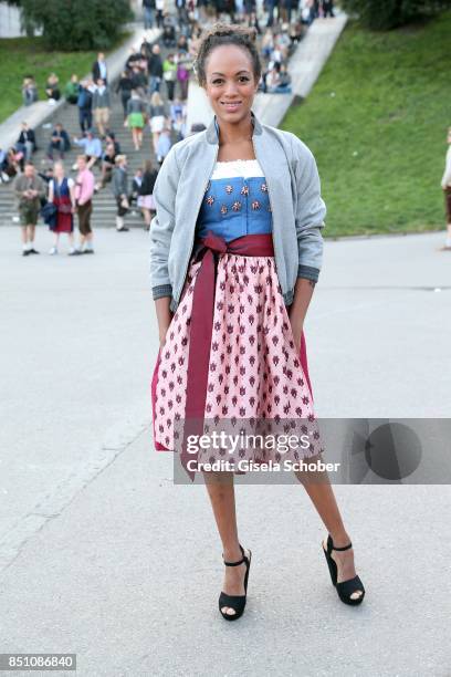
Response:
M314 156L252 111L261 76L252 30L213 25L196 72L214 119L172 146L154 189L150 275L160 351L151 392L159 450L176 446L178 420L202 434L203 417L216 424L231 417L232 425L233 418L283 423L286 413L314 419L303 323L326 213ZM180 459L190 472L186 441L183 431ZM321 451L310 442L303 456ZM223 548L218 604L227 621L244 611L251 563L238 537L233 475L203 472ZM318 476L312 483L296 472L328 531L322 548L332 582L343 602L356 605L365 590L349 535L327 475L319 482Z

